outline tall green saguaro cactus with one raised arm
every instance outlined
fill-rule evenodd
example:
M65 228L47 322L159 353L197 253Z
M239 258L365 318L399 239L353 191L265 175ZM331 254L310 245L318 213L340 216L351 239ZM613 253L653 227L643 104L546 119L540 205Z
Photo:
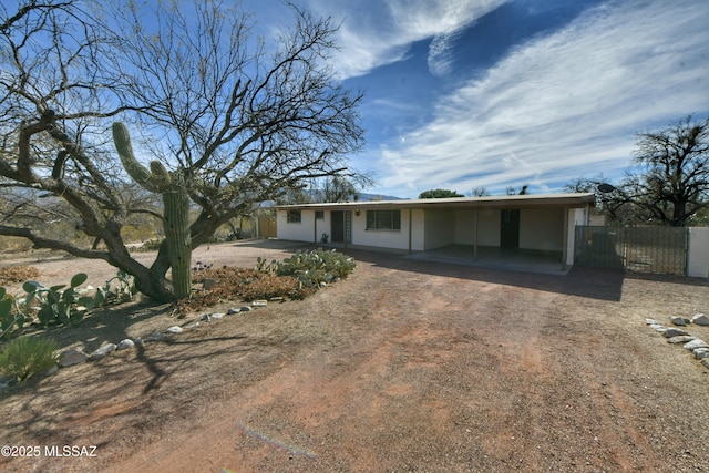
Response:
M167 172L158 161L147 169L137 162L129 131L123 123L113 124L113 142L129 175L146 191L163 196L163 225L169 254L175 298L189 297L192 291L192 238L189 236L189 196L181 171Z

